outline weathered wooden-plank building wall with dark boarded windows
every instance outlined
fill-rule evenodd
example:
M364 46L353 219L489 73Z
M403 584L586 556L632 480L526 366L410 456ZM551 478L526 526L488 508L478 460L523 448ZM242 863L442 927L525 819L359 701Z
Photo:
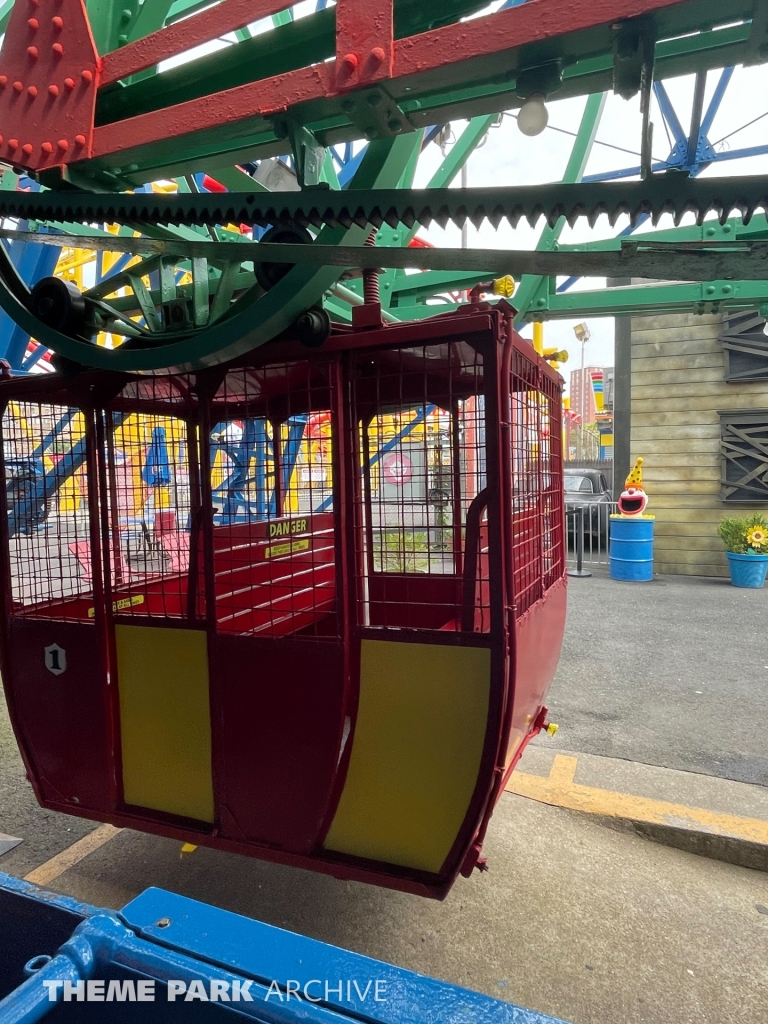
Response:
M763 326L756 313L632 319L630 449L645 460L656 572L728 575L720 519L768 514Z

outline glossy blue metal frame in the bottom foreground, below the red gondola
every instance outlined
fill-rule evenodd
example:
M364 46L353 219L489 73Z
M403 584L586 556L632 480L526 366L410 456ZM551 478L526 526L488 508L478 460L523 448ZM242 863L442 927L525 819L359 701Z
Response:
M103 910L0 872L0 896L18 907L11 932L34 922L36 905L41 916L58 910L73 929L53 955L17 965L27 980L0 998L0 1024L44 1020L65 1001L66 987L70 1001L85 1001L88 981L104 982L101 999L87 1012L82 1007L93 1021L110 1021L121 1009L108 1001L110 982L130 981L136 993L143 981L152 998L139 1015L147 1020L172 1014L193 1024L229 1014L261 1024L563 1024L163 889L145 890L120 911ZM11 937L9 948L28 947L24 938L14 946ZM164 1011L174 989L176 1006ZM214 1001L214 991L228 998Z

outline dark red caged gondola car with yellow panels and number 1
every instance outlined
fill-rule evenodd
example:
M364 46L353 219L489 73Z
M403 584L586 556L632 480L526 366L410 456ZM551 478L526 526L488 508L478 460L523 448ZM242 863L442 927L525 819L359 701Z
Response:
M560 384L505 303L4 379L2 674L40 803L444 896L545 724Z

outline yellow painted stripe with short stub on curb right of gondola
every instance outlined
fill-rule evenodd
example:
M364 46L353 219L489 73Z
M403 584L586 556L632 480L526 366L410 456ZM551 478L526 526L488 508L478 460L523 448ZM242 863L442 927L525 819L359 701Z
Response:
M578 764L578 758L558 754L549 776L514 771L507 783L507 793L538 800L553 807L584 811L587 814L629 818L632 821L647 821L650 824L675 828L691 828L713 836L728 836L750 843L768 845L768 821L761 818L720 814L708 811L703 807L687 807L685 804L672 804L666 800L651 800L629 793L613 793L611 790L579 785L573 781Z

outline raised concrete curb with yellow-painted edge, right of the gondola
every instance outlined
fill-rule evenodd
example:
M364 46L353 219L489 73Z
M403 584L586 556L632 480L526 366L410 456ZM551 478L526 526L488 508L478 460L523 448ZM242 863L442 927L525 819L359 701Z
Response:
M543 774L550 762L549 774ZM768 791L762 786L541 749L526 752L521 764L540 773L516 770L508 793L589 815L606 827L686 853L768 871ZM578 782L578 770L591 781L612 779L613 788ZM658 799L659 794L676 799ZM734 814L724 806L746 813Z

